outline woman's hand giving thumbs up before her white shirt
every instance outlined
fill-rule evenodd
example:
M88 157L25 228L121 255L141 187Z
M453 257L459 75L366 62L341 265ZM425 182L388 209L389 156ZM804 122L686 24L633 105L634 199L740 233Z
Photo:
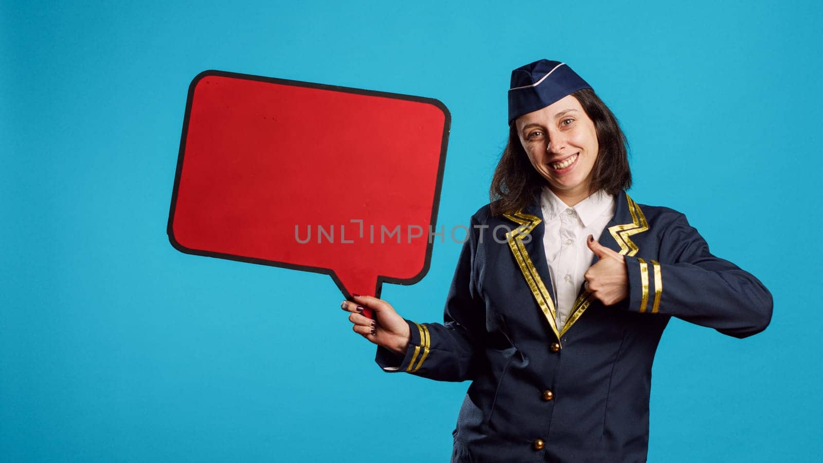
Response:
M586 270L586 288L604 306L611 306L629 296L629 272L623 255L617 254L589 235L588 249L597 255L597 263Z

